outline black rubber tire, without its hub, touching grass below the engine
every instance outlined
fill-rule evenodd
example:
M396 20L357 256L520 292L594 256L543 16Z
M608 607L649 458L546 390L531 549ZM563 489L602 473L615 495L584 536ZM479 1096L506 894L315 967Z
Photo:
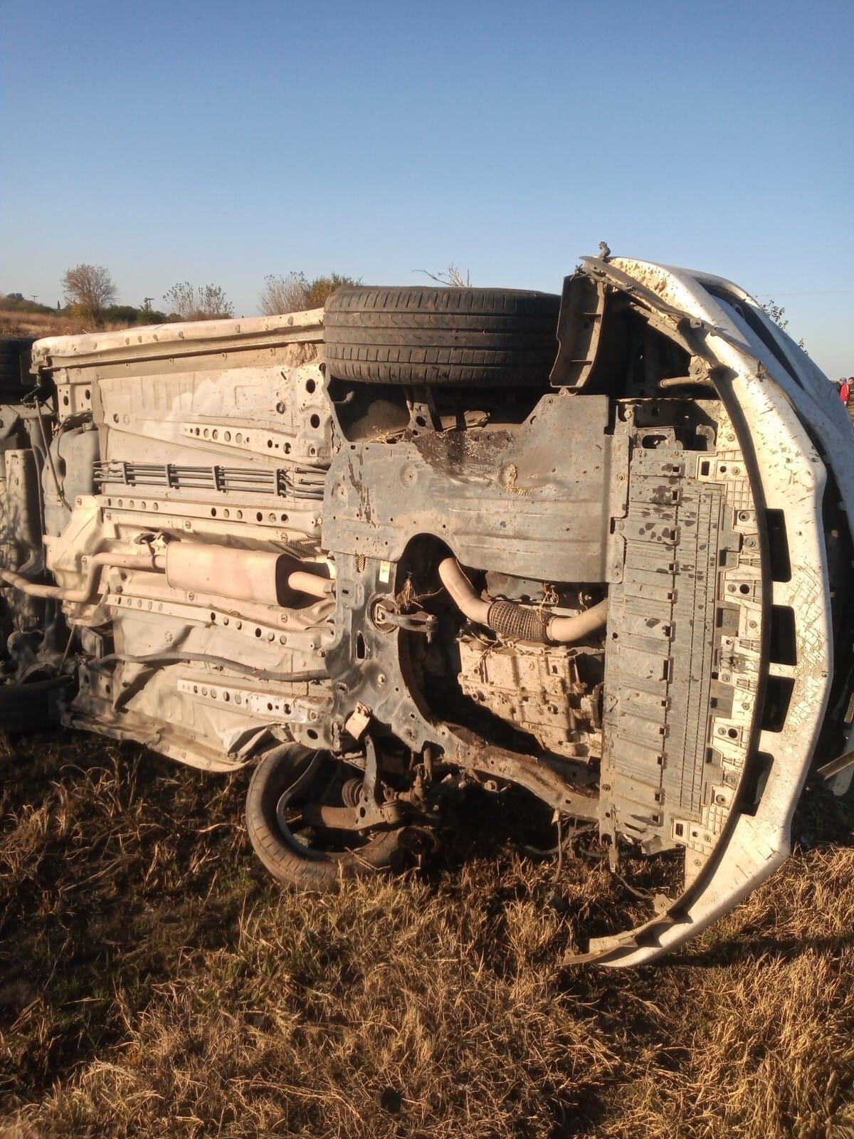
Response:
M277 748L255 768L246 793L246 829L261 862L279 882L297 890L334 890L343 877L388 867L399 846L396 830L384 830L354 852L317 851L289 842L276 818L279 798L314 752L294 745Z

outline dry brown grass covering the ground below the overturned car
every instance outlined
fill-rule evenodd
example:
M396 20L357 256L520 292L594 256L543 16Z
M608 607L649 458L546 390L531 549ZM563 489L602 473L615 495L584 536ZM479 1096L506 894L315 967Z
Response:
M427 875L297 898L251 855L245 776L68 737L0 762L0 1133L854 1136L854 814L828 798L670 964L561 974L626 895L588 861L555 887L496 837L512 804Z

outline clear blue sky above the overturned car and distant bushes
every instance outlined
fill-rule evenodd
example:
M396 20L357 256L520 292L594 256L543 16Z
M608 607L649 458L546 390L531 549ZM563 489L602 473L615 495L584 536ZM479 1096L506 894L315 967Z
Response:
M0 290L707 269L854 374L854 3L0 0Z

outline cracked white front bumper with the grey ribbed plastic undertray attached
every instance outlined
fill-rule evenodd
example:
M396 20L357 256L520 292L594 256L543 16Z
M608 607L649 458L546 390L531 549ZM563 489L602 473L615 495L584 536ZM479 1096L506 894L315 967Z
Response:
M638 493L638 478L655 470L665 485L659 464L666 464L671 441L633 464L625 574L610 589L608 634L624 642L606 680L601 789L611 803L603 802L602 811L610 811L608 821L621 831L634 827L647 849L679 843L687 858L684 892L666 912L626 934L593 940L586 954L567 958L622 966L654 960L696 935L789 854L791 817L832 675L824 462L832 466L849 521L854 470L851 424L838 399L834 405L830 385L764 314L755 316L758 309L745 294L713 278L700 282L642 262L588 264L616 287L629 280L633 295L662 320L690 328L698 352L725 376L717 386L730 427L724 424L717 437L732 443L731 453L718 444L707 468L703 457L698 466L698 457L689 457L695 481L680 482L678 501L664 513L660 501ZM706 285L732 290L732 303L716 300ZM747 305L750 323L741 316ZM822 440L823 456L811 435ZM674 478L682 478L684 459L675 458ZM667 528L672 509L675 531ZM781 580L770 574L767 511L779 515L788 535ZM670 597L668 566L680 571ZM680 612L687 617L693 606L697 620L674 620L673 630L666 623L651 626L646 600L656 591L674 618ZM771 659L770 622L781 613L791 650ZM680 628L690 630L689 644L684 636L680 644ZM704 739L698 722L705 716L698 720L696 710L707 702L712 714ZM657 754L673 762L659 765ZM761 764L764 778L749 810L733 801L746 762L754 772ZM658 777L650 775L656 767ZM666 808L659 806L662 789Z

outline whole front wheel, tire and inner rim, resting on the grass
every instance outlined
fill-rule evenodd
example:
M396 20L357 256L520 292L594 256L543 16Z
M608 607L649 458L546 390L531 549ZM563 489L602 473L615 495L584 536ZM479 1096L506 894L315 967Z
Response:
M298 745L276 748L255 768L246 794L246 827L253 850L279 882L322 892L344 877L391 865L400 830L343 829L322 825L322 818L318 822L323 808L331 809L327 814L332 818L335 811L346 811L352 776L329 753Z

